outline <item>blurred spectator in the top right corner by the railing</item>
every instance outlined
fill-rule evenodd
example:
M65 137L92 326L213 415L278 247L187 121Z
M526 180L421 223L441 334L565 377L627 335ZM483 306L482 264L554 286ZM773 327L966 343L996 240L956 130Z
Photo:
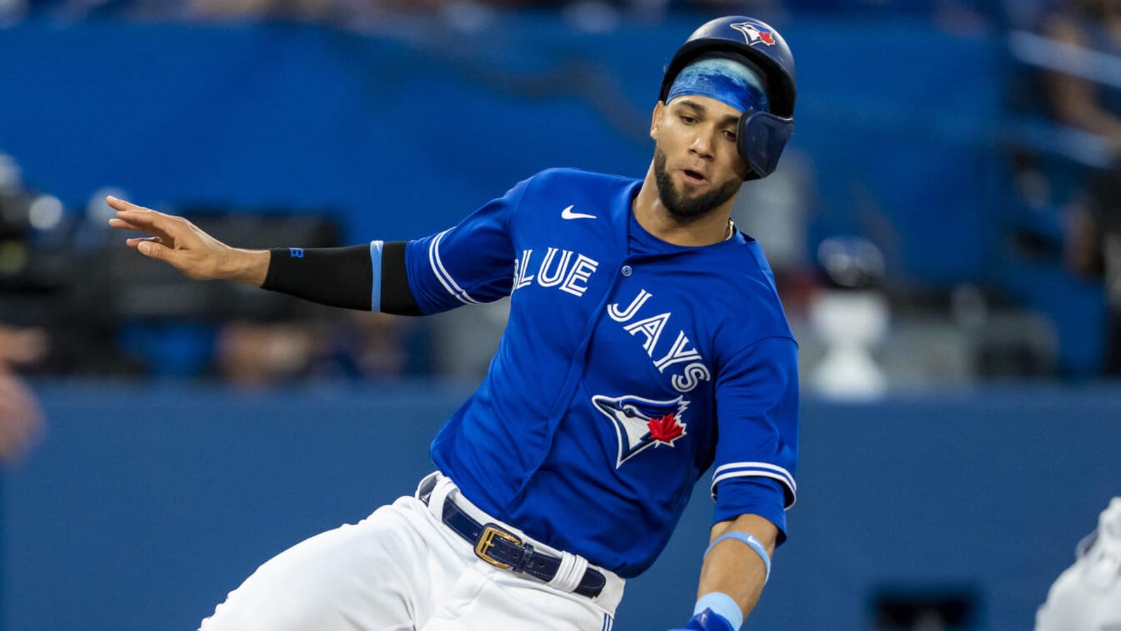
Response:
M1069 0L1045 20L1044 30L1081 48L1069 49L1067 61L1090 70L1090 53L1121 57L1121 2ZM1114 153L1121 152L1121 81L1095 84L1083 76L1053 73L1048 82L1050 104L1059 122L1101 136Z

